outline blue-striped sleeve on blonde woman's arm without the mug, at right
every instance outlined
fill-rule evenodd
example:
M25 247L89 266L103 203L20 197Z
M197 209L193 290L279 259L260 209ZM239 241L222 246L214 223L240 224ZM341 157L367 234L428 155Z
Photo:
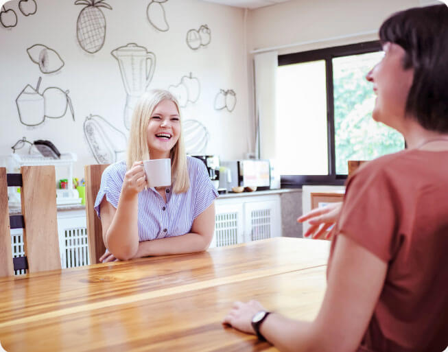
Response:
M213 186L207 172L207 167L199 159L194 162L193 169L196 170L195 185L194 185L194 209L193 220L207 209L210 204L217 198L218 193Z

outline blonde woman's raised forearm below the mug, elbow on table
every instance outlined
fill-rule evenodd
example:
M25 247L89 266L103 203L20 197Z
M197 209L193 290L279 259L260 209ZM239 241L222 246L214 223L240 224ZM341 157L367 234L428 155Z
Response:
M117 212L106 233L106 248L121 260L131 259L139 248L138 196L120 195Z

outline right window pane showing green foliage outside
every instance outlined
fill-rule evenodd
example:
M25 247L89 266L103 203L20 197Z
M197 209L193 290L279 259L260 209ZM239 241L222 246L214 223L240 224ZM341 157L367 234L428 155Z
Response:
M347 174L348 160L372 160L404 148L399 132L372 119L376 95L366 74L383 55L376 51L332 60L336 174Z

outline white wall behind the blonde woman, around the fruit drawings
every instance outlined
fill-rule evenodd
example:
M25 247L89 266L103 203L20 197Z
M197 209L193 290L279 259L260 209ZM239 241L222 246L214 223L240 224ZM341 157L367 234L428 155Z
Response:
M126 93L117 60L110 51L137 43L156 55L156 69L149 88L178 84L182 75L192 72L201 84L200 98L182 110L184 119L196 119L209 130L206 152L222 159L241 158L250 152L248 143L248 78L244 46L244 10L198 0L169 0L163 3L168 32L158 32L146 16L148 0L106 0L113 10L102 8L106 18L106 41L95 54L78 45L76 21L82 10L73 1L36 0L37 12L23 16L19 0L8 1L18 19L16 27L0 25L0 155L21 137L48 139L60 152L75 152L78 163L74 176L83 176L83 165L96 163L83 132L86 116L100 115L110 124L127 132L123 125ZM187 31L207 24L211 43L193 51L187 47ZM58 51L65 64L56 73L44 74L27 55L34 44ZM61 119L46 119L36 127L19 121L15 99L30 84L42 77L39 93L48 86L69 90L75 121L67 114ZM220 89L233 89L237 104L233 113L213 108Z

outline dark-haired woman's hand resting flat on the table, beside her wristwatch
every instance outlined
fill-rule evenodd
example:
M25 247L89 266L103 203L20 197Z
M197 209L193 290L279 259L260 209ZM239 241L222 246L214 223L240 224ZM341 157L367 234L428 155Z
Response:
M259 301L249 301L248 303L235 302L230 312L224 317L222 323L224 325L231 325L239 331L245 333L255 334L252 328L252 318L260 312L261 310L266 310L259 303Z

